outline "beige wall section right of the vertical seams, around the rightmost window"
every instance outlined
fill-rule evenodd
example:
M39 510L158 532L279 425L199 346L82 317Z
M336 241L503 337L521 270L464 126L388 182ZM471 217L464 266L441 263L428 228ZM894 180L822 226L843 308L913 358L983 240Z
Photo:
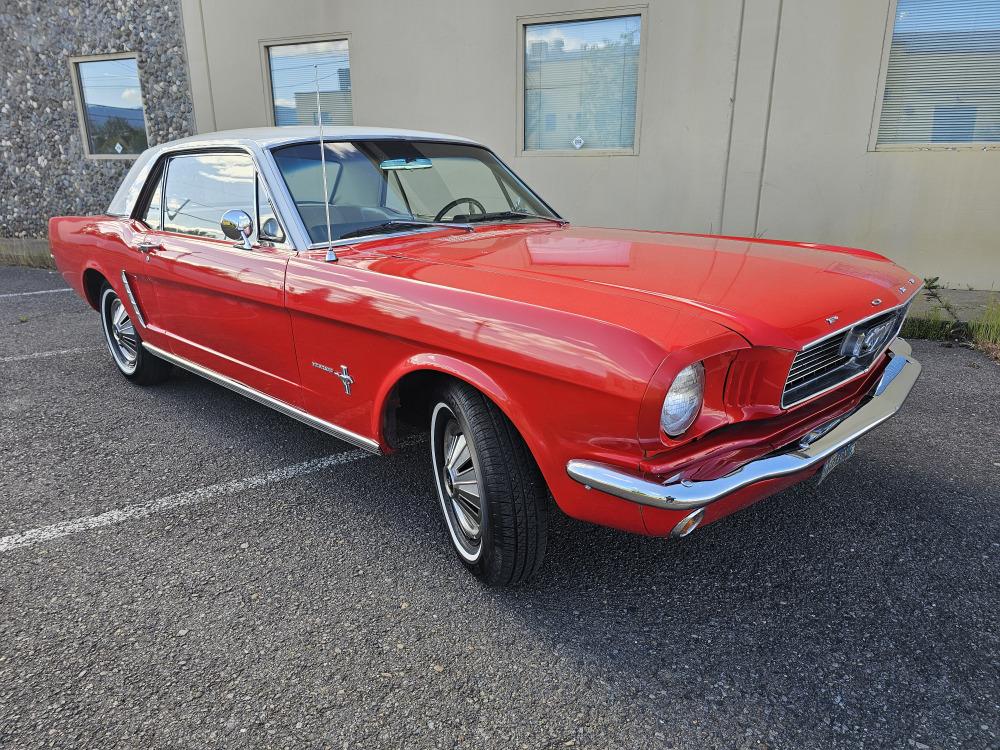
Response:
M784 3L757 227L1000 289L1000 149L869 150L889 6Z

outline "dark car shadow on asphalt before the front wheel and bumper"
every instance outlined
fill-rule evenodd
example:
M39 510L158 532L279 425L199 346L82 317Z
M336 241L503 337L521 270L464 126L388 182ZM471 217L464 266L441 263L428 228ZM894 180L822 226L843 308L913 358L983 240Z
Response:
M989 711L962 707L995 685L996 579L982 566L996 545L968 533L961 500L983 488L910 473L874 441L864 447L822 486L786 490L682 541L555 511L541 576L479 588L479 598L581 680L649 704L688 737L792 715L796 732L810 728L804 744L902 747L947 734L974 746ZM445 543L430 497L405 524L428 525L431 539L437 528Z

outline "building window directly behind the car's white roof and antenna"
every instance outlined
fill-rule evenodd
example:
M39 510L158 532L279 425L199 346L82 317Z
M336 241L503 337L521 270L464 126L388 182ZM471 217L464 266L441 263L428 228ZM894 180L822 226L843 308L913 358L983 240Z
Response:
M347 40L266 47L275 125L318 125L316 77L324 125L351 125L351 61Z

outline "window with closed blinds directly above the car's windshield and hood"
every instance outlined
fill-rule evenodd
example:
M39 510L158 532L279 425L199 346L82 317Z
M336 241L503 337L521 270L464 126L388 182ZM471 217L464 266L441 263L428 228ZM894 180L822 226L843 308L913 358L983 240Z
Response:
M521 150L635 153L641 13L520 24Z

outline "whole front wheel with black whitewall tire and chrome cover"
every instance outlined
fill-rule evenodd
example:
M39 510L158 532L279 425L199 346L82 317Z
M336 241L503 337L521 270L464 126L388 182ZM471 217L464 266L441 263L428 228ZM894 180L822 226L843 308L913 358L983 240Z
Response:
M448 534L466 567L498 586L537 572L548 489L503 412L479 391L449 384L431 412L431 459Z

